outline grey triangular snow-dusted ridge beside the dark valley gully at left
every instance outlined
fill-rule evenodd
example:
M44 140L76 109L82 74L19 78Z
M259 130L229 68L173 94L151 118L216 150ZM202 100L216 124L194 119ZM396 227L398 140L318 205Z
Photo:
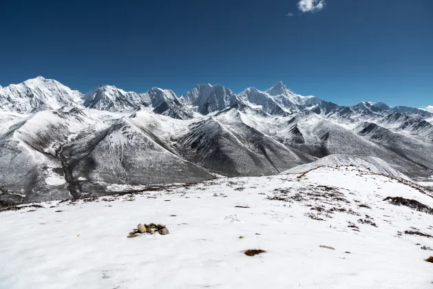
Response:
M60 158L72 195L105 195L110 185L138 186L214 178L177 156L154 135L121 118L88 138L66 144Z

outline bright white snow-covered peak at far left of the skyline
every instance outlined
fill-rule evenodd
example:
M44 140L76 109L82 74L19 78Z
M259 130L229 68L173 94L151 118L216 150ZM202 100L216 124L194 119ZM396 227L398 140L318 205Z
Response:
M80 103L80 92L42 76L0 88L1 111L29 114L65 105L80 106Z

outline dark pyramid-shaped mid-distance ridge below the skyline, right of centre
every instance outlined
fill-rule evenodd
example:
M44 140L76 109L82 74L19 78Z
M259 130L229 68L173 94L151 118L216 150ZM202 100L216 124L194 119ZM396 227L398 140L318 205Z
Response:
M224 175L269 175L315 158L246 125L237 109L193 123L177 140L182 156Z

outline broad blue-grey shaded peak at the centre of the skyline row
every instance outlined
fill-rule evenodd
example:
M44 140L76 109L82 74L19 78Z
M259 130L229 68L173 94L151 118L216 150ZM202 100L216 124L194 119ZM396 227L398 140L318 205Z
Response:
M236 94L222 85L196 85L190 92L180 96L187 105L196 107L200 114L207 115L237 103Z

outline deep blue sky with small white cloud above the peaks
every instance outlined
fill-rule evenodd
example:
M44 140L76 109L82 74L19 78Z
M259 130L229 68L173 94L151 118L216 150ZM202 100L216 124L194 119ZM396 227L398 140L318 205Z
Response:
M183 94L277 81L340 105L433 105L431 0L0 0L0 84Z

